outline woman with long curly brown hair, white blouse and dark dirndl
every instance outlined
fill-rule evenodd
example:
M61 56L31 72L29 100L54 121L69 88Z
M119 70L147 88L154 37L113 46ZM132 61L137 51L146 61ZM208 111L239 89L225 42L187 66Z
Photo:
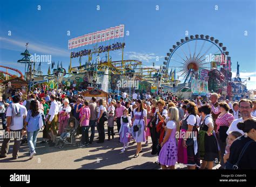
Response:
M181 135L178 142L178 163L183 163L187 169L200 167L197 130L197 106L193 102L187 104L187 117L182 121Z

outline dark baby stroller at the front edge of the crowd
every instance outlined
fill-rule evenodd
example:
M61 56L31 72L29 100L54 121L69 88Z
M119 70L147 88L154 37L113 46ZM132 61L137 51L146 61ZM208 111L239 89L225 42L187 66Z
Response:
M74 124L74 128L70 127L70 123ZM56 138L57 142L55 147L59 147L60 149L63 149L65 143L70 145L76 144L76 133L77 133L78 126L79 126L78 120L75 117L70 117L68 121L68 125L65 128L65 132L69 132L70 134L64 136L64 138L62 138L62 136L57 137Z

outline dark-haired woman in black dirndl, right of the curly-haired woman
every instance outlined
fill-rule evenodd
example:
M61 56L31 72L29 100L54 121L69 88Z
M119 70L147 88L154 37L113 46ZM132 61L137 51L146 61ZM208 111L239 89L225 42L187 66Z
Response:
M217 139L213 135L214 122L211 115L211 107L208 105L201 106L202 118L199 130L199 152L201 160L203 160L200 169L212 169L213 161L218 160L218 144Z

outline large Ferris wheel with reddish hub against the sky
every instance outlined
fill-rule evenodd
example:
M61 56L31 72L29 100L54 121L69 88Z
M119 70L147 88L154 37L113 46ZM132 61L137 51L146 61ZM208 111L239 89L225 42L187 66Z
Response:
M172 46L165 57L161 73L165 81L189 83L198 76L201 68L210 70L213 67L212 59L216 55L229 55L218 39L203 34L190 35Z

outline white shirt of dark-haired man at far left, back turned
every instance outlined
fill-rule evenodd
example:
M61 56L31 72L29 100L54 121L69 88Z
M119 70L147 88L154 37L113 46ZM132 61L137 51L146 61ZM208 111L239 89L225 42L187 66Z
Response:
M20 117L12 117L11 120L14 120L14 125L13 126L10 126L10 130L21 130L23 128L23 118L24 116L26 116L26 107L19 104L19 103L14 103L17 107L19 107L19 109L21 109L21 116ZM9 106L7 111L6 111L6 117L8 116L12 116L12 109L11 107Z

